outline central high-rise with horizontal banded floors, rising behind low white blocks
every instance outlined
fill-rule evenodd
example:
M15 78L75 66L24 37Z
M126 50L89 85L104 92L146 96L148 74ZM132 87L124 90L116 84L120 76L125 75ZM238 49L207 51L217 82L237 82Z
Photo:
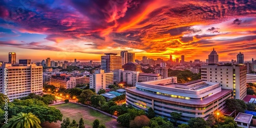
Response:
M101 56L101 69L106 73L113 72L114 82L119 82L119 69L122 69L122 57L117 56L115 53L105 53L105 56Z

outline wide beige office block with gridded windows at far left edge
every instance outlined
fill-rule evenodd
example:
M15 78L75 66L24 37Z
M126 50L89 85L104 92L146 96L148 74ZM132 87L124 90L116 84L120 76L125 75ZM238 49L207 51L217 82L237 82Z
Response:
M4 86L4 69L8 69L8 87ZM35 64L12 65L4 63L0 68L0 93L6 94L10 101L42 93L42 66Z

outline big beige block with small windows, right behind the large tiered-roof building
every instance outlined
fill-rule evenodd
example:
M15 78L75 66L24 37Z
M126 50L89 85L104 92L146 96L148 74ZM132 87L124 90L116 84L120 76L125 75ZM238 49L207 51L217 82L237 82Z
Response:
M243 99L246 96L246 66L208 65L201 67L201 79L218 82L222 89L232 90L233 97Z

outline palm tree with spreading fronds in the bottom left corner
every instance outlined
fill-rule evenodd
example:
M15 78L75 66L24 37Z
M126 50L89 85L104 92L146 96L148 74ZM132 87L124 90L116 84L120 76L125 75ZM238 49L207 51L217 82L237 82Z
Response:
M3 128L41 128L40 120L30 113L18 113L17 116L12 116Z

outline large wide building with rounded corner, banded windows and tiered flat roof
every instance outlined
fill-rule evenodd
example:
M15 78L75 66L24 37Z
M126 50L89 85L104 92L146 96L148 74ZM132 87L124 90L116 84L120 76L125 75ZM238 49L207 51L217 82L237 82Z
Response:
M173 119L170 113L182 113L177 123L187 123L191 118L208 116L222 111L225 100L231 98L231 90L221 89L220 84L195 80L177 83L177 77L137 82L136 87L126 89L126 104L148 111L153 108L156 116Z

